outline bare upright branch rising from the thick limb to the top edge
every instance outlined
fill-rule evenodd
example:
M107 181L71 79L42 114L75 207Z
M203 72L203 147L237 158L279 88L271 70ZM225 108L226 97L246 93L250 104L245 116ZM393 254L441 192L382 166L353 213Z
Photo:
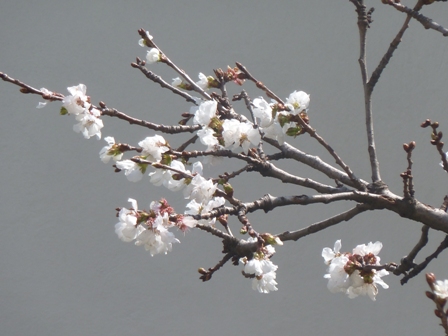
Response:
M367 58L366 58L366 35L367 28L371 23L371 19L366 12L364 0L350 0L358 13L358 30L359 30L359 66L361 69L362 85L364 88L364 108L366 118L367 143L370 159L370 168L372 171L372 182L377 183L381 181L380 167L375 149L375 137L373 132L373 118L372 118L372 88L368 82L367 74Z

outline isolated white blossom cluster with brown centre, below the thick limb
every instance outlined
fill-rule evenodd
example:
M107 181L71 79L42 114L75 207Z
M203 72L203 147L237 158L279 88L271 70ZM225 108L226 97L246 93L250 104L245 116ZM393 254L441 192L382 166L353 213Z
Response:
M377 285L389 288L381 279L389 272L368 267L380 266L378 253L382 247L381 242L362 244L356 246L352 253L341 253L341 240L336 241L333 250L325 247L322 257L328 265L328 273L324 278L328 279L327 287L330 292L342 292L351 299L358 295L368 295L375 301L378 294Z

